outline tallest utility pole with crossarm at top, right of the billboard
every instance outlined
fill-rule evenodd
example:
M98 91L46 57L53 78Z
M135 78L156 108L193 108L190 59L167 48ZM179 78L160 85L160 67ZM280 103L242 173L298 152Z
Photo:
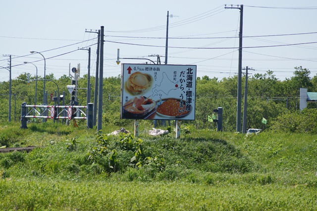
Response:
M237 132L241 132L241 95L242 95L242 28L243 28L243 4L238 7L225 7L240 10L240 31L239 31L239 64L238 64L238 92L237 92Z

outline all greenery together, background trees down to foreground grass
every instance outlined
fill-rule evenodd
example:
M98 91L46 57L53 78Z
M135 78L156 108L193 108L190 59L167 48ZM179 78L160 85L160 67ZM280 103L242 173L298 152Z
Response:
M299 111L299 88L317 91L317 77L309 74L300 66L284 81L269 70L249 79L247 128L262 132L248 136L235 133L236 76L197 78L196 119L182 121L176 139L174 121L157 121L169 133L154 137L153 121L141 120L133 136L134 120L119 118L119 76L104 78L102 131L83 120L67 126L51 119L20 129L19 106L35 98L35 82L27 84L22 73L12 80L10 122L8 99L0 98L0 148L36 148L0 153L0 210L316 210L316 104ZM70 78L46 77L67 102ZM78 83L86 87L87 75ZM49 93L54 86L47 83ZM0 90L7 94L8 82ZM85 94L78 92L80 105ZM222 132L208 121L217 107ZM110 135L120 128L132 133Z

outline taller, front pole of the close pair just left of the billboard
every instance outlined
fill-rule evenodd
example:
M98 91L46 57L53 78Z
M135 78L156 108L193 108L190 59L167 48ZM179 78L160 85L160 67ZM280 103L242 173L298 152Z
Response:
M103 123L103 80L104 80L104 26L101 26L100 35L100 77L99 77L99 95L98 95L98 123L97 132L102 130Z

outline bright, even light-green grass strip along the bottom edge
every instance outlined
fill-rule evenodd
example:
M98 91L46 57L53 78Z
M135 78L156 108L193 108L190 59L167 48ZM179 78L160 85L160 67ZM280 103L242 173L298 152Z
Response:
M0 190L0 205L10 210L315 210L317 206L315 188L274 184L18 179L0 181Z

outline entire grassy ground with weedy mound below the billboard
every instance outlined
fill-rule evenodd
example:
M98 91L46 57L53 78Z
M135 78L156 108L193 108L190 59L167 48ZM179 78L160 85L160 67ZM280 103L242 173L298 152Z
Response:
M0 125L0 210L316 210L317 135ZM133 128L126 128L133 131ZM166 128L161 128L166 129Z

